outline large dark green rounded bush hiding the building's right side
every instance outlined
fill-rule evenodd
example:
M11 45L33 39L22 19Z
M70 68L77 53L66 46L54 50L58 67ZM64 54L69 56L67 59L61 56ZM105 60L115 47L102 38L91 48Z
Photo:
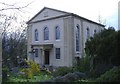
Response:
M94 56L100 61L114 62L112 64L120 64L118 58L119 33L114 29L105 29L101 33L96 34L93 38L86 42L86 54ZM113 60L112 60L113 59ZM115 63L117 61L118 63Z

